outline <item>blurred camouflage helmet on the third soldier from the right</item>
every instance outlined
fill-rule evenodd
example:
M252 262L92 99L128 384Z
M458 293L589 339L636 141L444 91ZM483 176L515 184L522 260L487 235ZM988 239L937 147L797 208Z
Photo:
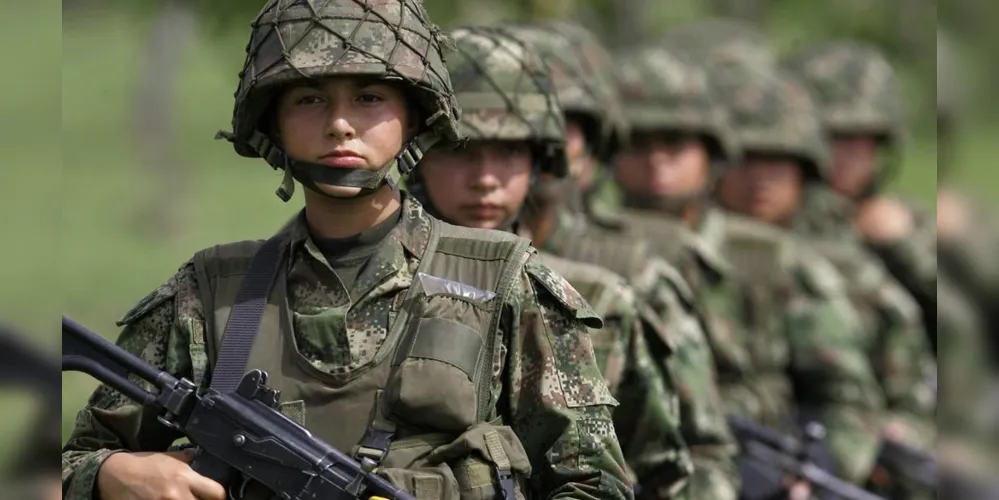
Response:
M739 152L707 73L662 47L629 50L618 62L619 90L632 130L702 134L716 160Z

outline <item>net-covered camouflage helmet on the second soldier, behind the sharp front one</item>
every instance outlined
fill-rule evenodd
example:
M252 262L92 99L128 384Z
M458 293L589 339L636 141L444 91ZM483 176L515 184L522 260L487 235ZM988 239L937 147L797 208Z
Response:
M457 48L447 67L462 108L461 132L472 140L528 141L541 172L565 177L565 120L541 56L495 28L449 34Z

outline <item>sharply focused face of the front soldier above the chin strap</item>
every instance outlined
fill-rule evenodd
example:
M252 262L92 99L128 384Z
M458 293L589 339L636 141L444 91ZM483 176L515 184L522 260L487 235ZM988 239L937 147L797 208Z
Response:
M335 77L285 90L277 107L277 134L292 158L329 168L378 170L402 150L409 123L397 86L358 77ZM331 196L360 188L319 184Z

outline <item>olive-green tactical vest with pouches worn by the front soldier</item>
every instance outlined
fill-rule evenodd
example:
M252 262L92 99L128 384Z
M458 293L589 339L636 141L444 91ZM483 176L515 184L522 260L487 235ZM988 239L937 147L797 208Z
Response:
M389 333L367 366L334 376L299 353L287 252L247 366L269 374L285 415L338 449L378 464L418 500L523 500L530 462L488 405L503 305L533 250L511 234L431 220L413 283L393 301ZM262 245L244 241L195 256L210 363Z

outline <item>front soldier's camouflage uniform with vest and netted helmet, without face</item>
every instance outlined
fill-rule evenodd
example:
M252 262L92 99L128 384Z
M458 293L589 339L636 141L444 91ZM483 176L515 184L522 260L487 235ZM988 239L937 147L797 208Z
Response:
M306 188L377 189L428 144L463 138L441 58L446 37L419 3L275 0L253 27L227 134L240 154L287 167ZM273 85L338 74L400 81L430 117L371 175L334 178L344 173L290 160L257 128L266 126L259 117ZM507 487L517 498L631 498L610 414L617 403L586 330L600 328L599 317L526 240L450 226L400 196L395 218L372 229L384 237L350 286L310 235L304 211L268 240L282 257L247 365L268 370L282 412L334 446L380 460L378 470L417 498L509 499ZM260 246L198 252L122 318L118 344L204 387L241 273ZM475 349L457 352L465 347ZM376 423L395 434L384 456L355 446ZM177 437L152 412L99 387L63 449L65 498L92 498L110 454L166 450ZM476 446L487 453L468 451Z

